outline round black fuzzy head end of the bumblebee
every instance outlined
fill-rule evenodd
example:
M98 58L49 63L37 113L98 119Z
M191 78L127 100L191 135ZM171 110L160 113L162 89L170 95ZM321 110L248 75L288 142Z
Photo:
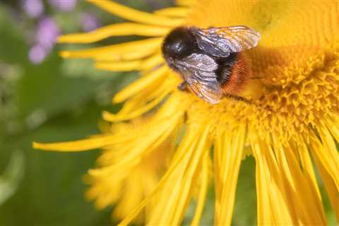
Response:
M175 28L165 37L162 54L167 61L183 59L193 52L195 37L189 28Z

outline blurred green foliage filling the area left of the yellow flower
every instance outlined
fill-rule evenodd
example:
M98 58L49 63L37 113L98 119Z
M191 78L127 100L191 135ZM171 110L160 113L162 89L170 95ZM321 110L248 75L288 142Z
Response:
M111 211L97 211L83 198L82 177L98 150L43 152L31 143L99 133L102 110L114 111L113 93L133 74L95 71L88 62L84 70L84 61L60 59L59 46L42 64L31 64L32 21L18 21L11 7L0 3L0 225L110 225ZM63 30L79 31L72 13L55 14L69 18Z

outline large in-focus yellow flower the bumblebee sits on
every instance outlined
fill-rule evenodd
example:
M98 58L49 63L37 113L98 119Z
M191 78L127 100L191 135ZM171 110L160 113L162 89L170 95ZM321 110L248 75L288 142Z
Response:
M179 225L196 189L192 225L198 225L210 160L215 225L230 225L244 150L256 160L258 225L326 225L315 167L339 219L338 2L181 0L176 7L153 13L113 1L90 2L133 23L65 35L60 42L88 43L120 35L149 38L66 51L61 56L91 58L98 69L141 72L137 81L114 96L113 101L125 102L124 107L117 114L104 112L105 120L117 123L154 114L133 133L35 143L35 148L73 151L117 145L114 161L89 172L105 179L136 167L165 142L179 141L165 174L121 225L131 222L145 206L153 206L146 213L148 224ZM247 25L261 32L259 46L246 52L252 73L261 79L251 81L242 93L255 105L227 98L210 105L177 90L180 78L165 66L160 46L164 36L179 25ZM97 191L103 196L109 192Z

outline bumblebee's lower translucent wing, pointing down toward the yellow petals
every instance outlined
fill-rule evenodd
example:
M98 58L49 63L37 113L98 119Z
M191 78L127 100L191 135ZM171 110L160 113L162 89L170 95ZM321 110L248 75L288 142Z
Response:
M211 104L220 101L222 88L214 73L218 64L212 58L205 54L191 54L176 63L193 93Z

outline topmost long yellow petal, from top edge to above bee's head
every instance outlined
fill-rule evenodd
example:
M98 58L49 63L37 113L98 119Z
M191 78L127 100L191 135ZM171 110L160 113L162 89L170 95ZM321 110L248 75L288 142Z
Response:
M154 15L152 13L146 13L143 11L138 11L133 8L117 4L114 1L107 0L88 0L90 3L102 8L103 10L119 16L126 20L131 20L138 23L146 23L151 25L160 25L168 27L176 27L183 23L182 19L178 18L168 18L165 16Z

